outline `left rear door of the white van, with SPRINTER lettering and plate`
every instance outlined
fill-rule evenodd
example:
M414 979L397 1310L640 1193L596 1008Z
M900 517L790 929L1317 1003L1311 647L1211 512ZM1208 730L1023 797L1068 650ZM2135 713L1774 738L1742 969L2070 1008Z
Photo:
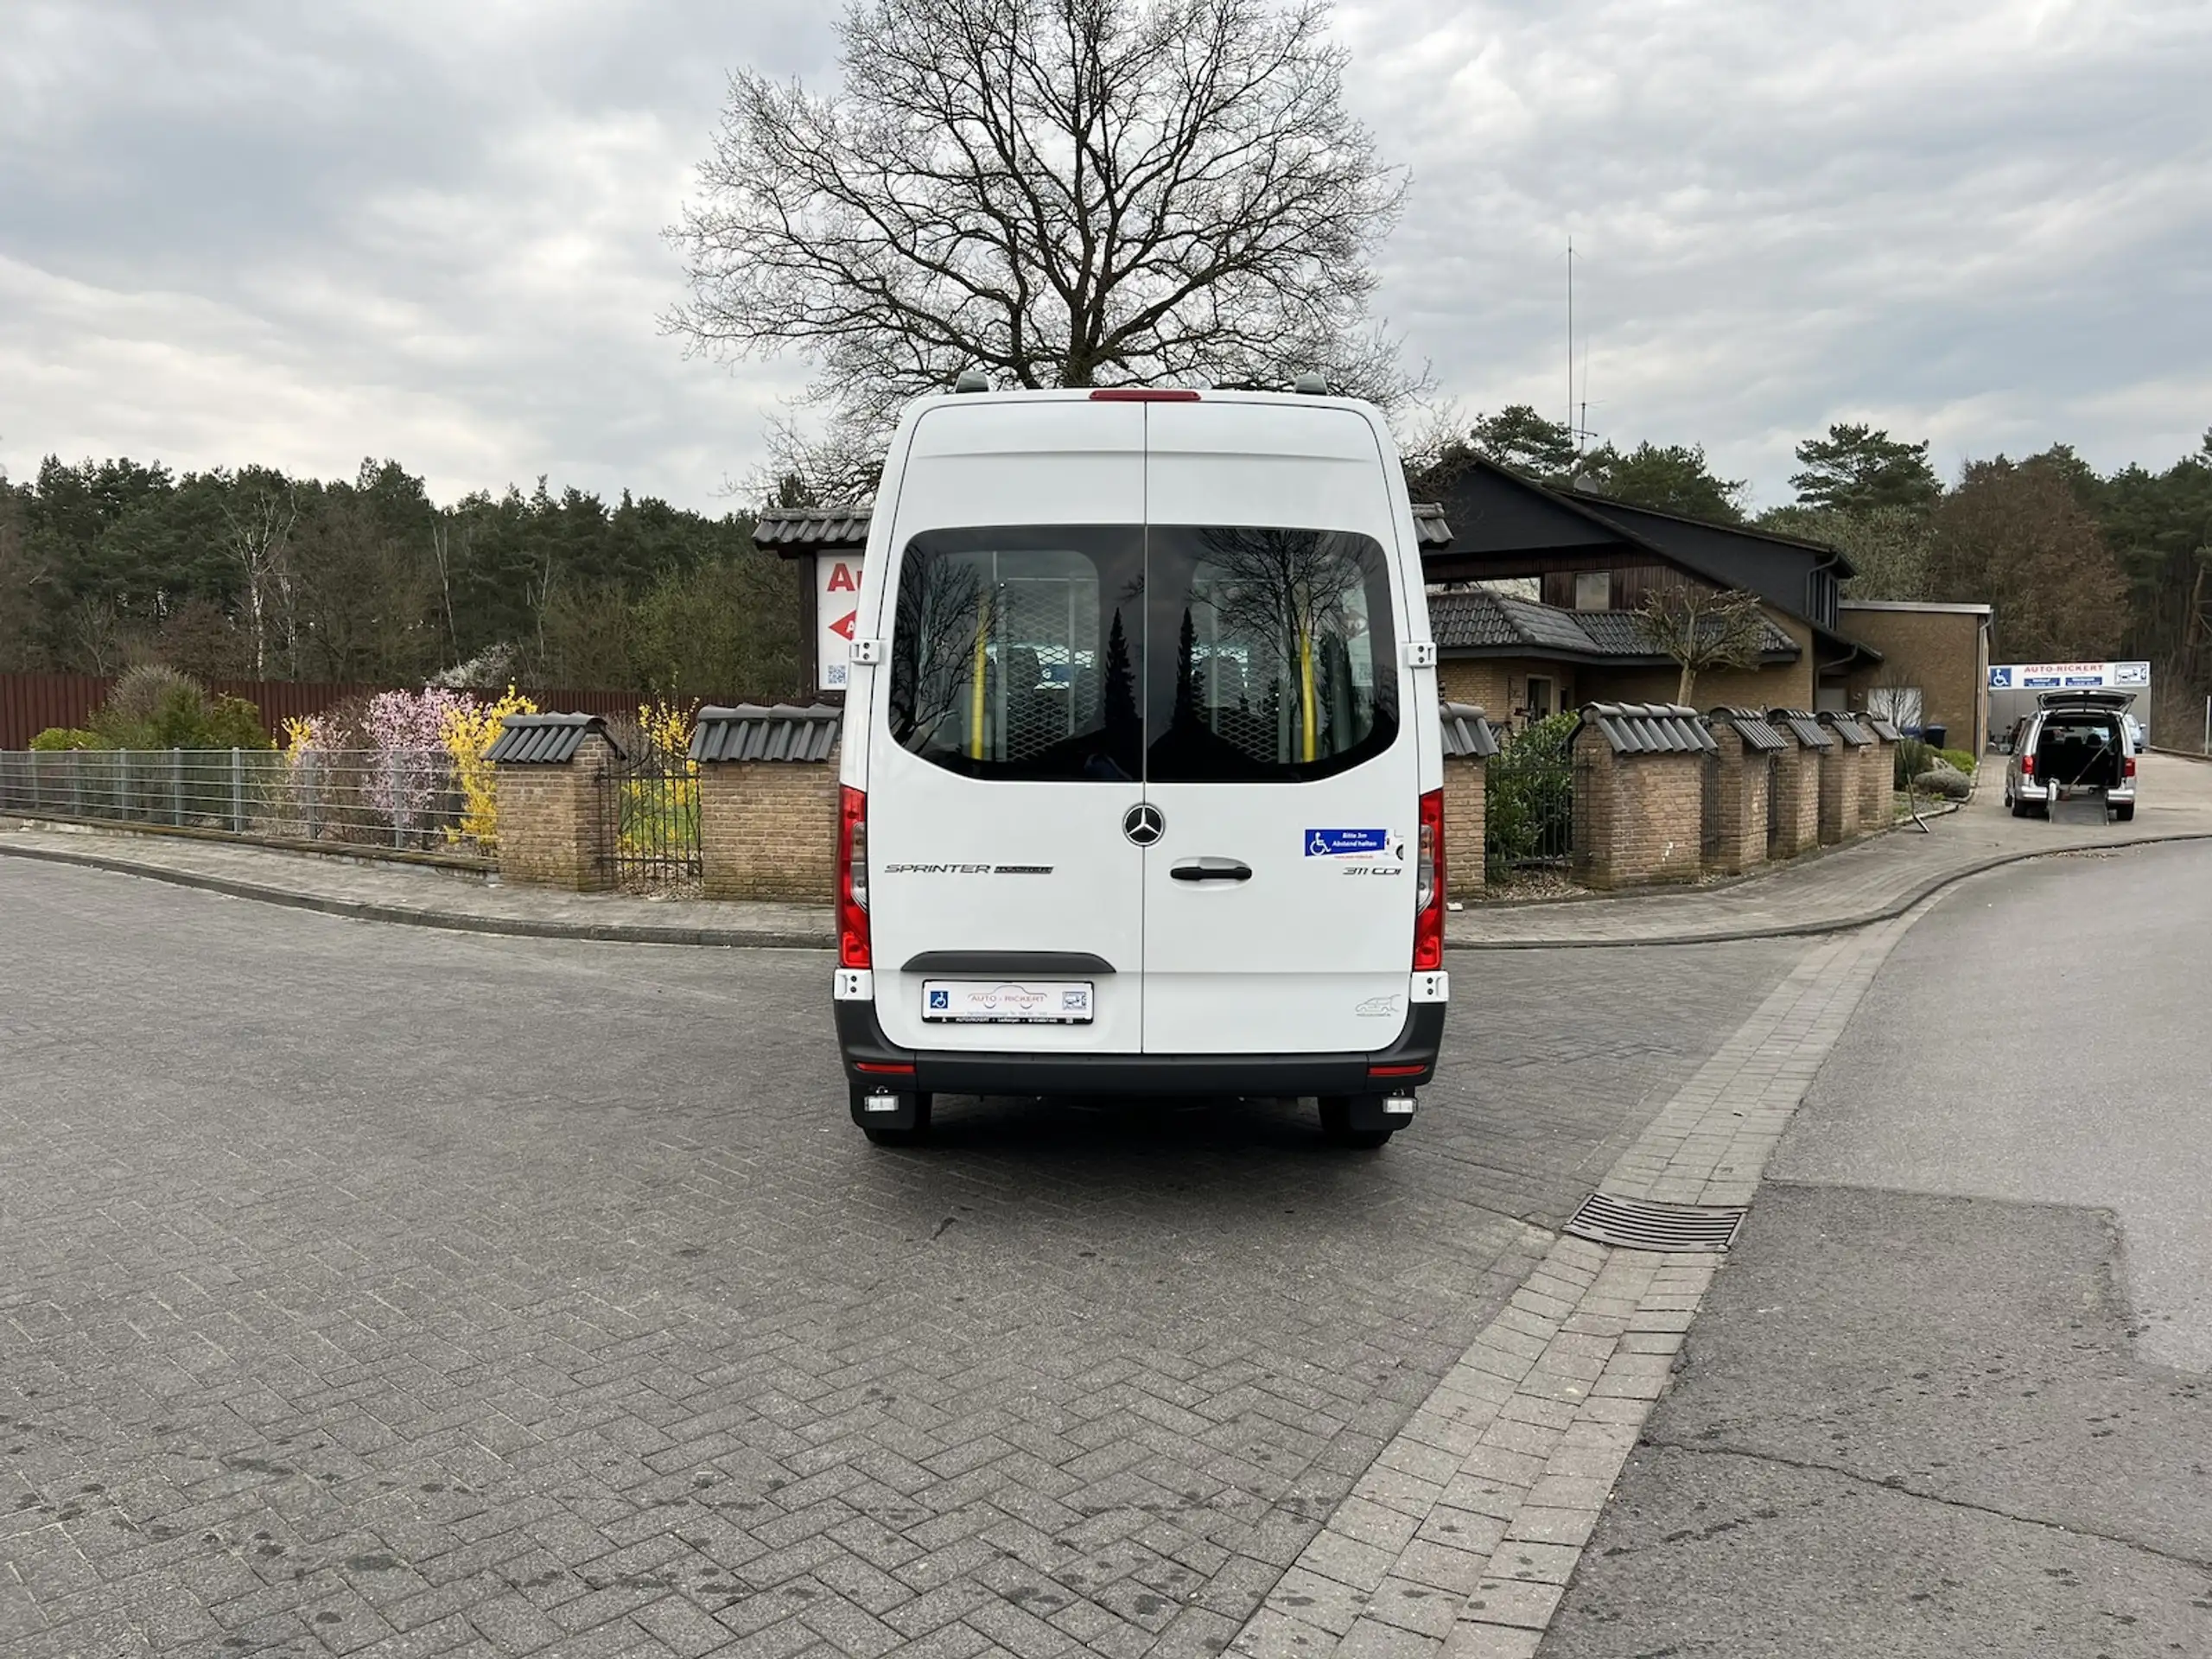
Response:
M1144 409L947 403L896 489L867 770L876 1020L909 1048L1139 1053Z

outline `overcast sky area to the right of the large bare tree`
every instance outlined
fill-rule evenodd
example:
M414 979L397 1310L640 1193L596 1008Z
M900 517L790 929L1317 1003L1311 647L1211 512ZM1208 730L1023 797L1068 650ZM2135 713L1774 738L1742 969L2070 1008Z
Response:
M1413 168L1385 303L1471 407L1564 411L1573 232L1590 425L1703 440L1765 500L1836 418L1947 467L2166 465L2212 422L2132 392L2212 347L2203 4L1365 0L1343 27Z

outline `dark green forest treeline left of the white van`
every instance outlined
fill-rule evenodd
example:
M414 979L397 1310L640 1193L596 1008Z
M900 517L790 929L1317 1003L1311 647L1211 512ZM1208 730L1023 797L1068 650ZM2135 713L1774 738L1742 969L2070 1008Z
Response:
M540 480L438 507L398 462L49 458L0 478L0 670L792 697L799 580L752 518Z

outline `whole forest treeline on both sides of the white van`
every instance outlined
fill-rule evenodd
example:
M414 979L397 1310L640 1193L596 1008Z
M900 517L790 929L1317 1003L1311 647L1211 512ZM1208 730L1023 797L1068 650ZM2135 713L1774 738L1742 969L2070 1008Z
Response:
M1577 447L1524 405L1416 445L1416 495L1471 456L1834 544L1851 597L1989 602L2006 661L2141 657L2174 695L2212 690L2212 434L2163 469L2099 473L2057 445L1944 482L1927 442L1838 422L1756 520L1697 445ZM392 460L325 482L49 458L0 478L0 670L801 695L799 580L752 522L544 480L438 507Z

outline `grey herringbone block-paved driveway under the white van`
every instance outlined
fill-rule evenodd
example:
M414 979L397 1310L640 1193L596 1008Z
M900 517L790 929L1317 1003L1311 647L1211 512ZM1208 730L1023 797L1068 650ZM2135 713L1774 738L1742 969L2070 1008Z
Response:
M1798 951L1462 960L1371 1157L883 1152L821 956L0 865L0 1648L1212 1652Z

